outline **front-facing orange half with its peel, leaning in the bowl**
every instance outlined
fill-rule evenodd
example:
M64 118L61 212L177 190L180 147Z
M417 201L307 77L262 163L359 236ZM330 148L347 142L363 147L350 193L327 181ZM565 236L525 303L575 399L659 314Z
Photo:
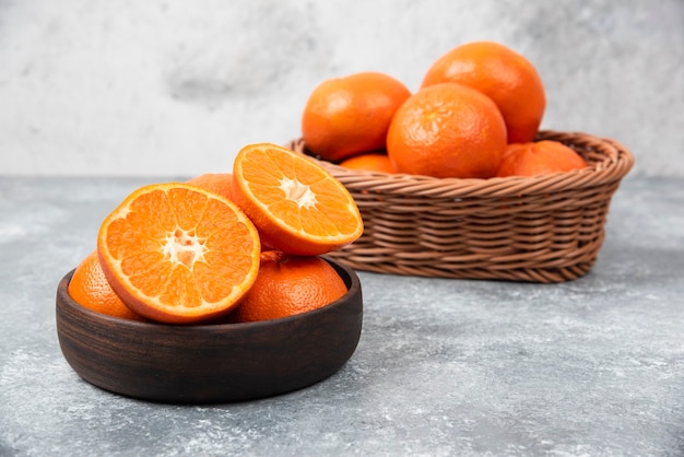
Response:
M257 228L235 203L182 183L133 191L103 221L97 253L121 301L182 324L229 312L257 278Z

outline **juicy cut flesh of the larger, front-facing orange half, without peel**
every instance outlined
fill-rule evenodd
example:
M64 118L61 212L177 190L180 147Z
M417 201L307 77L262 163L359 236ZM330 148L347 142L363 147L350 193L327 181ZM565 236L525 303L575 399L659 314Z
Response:
M225 203L182 188L133 200L107 230L119 269L166 306L198 307L234 293L252 263L253 238Z

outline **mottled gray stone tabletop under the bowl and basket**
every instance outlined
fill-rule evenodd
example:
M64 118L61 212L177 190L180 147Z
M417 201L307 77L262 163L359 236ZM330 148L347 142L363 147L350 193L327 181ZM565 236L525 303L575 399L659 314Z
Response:
M201 407L93 387L57 342L58 281L153 180L0 177L0 456L684 454L684 179L628 176L576 281L359 272L339 373Z

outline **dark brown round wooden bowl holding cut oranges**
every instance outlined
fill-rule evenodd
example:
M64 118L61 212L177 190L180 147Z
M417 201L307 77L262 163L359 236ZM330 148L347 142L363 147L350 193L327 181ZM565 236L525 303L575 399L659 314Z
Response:
M208 403L296 390L338 372L361 337L356 273L329 258L349 292L322 308L248 324L174 326L92 312L57 288L57 336L71 367L89 383L151 401Z

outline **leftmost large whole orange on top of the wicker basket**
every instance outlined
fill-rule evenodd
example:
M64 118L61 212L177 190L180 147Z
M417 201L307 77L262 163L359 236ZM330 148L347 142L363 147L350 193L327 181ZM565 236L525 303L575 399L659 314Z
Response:
M379 72L323 81L304 107L302 138L310 152L332 162L382 150L392 116L410 95L403 83Z

